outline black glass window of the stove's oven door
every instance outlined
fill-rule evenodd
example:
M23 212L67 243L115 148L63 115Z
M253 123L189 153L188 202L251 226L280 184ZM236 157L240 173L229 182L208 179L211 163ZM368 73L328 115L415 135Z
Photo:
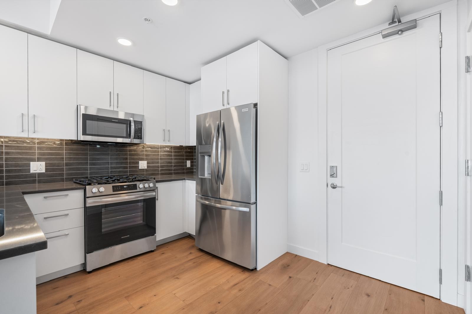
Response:
M156 200L86 207L86 253L156 234Z

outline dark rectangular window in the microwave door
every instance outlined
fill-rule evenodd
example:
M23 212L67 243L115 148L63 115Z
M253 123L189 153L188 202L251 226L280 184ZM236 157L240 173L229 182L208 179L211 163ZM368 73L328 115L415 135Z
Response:
M127 119L82 114L82 135L84 136L129 139L130 128L130 121Z

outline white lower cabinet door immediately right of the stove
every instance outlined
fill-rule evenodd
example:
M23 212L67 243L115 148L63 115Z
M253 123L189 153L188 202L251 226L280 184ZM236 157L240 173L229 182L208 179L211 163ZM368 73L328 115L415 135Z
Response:
M184 232L184 181L157 183L156 240Z

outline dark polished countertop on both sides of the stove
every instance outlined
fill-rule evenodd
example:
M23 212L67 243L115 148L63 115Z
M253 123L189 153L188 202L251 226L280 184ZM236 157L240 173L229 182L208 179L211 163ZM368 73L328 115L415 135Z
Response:
M156 177L156 182L191 180L194 175L167 175ZM34 219L23 195L66 190L84 190L74 183L44 183L0 187L0 209L5 210L5 234L0 237L0 259L46 249L48 242Z

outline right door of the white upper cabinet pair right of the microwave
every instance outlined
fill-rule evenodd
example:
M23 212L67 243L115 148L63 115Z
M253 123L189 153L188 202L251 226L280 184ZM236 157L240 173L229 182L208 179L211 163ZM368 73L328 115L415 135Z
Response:
M166 78L166 143L185 144L185 83Z

